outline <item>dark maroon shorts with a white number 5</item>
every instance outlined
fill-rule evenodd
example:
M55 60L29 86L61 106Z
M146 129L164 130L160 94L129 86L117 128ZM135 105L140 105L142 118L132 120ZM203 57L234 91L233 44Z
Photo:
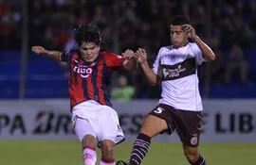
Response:
M166 121L168 129L164 132L171 135L176 130L185 145L198 146L202 125L200 111L174 109L174 107L159 104L149 114Z

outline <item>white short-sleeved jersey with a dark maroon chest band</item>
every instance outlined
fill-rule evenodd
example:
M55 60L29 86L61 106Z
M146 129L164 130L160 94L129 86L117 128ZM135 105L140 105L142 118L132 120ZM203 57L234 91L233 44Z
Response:
M202 110L197 66L203 61L202 52L195 43L180 48L162 47L153 66L162 86L159 103L176 109Z

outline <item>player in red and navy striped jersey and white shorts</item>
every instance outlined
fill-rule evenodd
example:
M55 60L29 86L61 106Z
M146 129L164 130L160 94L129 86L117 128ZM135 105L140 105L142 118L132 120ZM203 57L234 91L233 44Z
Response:
M82 142L83 165L95 165L97 145L101 147L100 165L113 165L114 146L124 140L124 135L106 84L112 72L137 68L135 53L126 50L119 56L102 52L101 33L94 25L80 25L74 38L79 47L69 52L50 51L42 46L33 46L32 51L68 63L72 123Z

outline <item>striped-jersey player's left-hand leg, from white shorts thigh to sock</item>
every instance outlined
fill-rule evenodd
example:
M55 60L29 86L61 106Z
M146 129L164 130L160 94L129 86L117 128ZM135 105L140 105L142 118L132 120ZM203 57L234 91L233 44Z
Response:
M82 142L82 159L83 165L95 165L97 161L96 145L94 128L87 120L77 118L74 124L75 133Z

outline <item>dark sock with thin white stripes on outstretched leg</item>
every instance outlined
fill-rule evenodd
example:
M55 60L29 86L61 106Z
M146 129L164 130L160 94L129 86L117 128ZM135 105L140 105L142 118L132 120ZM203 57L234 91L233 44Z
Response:
M130 158L131 165L140 164L142 159L146 157L149 147L150 147L151 138L145 134L138 134L137 140L134 143L134 148Z

